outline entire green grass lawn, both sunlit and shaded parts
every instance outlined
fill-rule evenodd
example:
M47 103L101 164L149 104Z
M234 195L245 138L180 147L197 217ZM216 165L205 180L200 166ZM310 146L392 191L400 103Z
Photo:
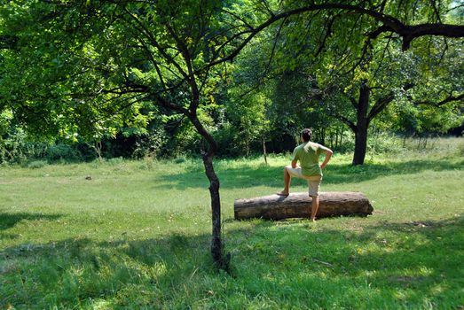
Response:
M314 224L233 220L288 157L217 160L231 275L212 267L200 160L1 167L0 308L460 309L463 156L463 139L335 155L322 190L362 191L374 214Z

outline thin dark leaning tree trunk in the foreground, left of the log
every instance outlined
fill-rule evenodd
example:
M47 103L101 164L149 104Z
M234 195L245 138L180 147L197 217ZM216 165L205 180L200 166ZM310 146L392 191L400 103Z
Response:
M216 153L217 143L213 136L203 127L201 121L195 112L188 115L192 121L193 126L197 129L198 133L207 141L208 151L204 151L201 155L203 158L203 165L205 167L205 174L209 181L209 195L211 197L211 213L213 231L211 238L211 254L216 266L224 270L229 269L229 258L223 256L223 244L221 240L221 198L219 196L219 178L216 175L213 158Z

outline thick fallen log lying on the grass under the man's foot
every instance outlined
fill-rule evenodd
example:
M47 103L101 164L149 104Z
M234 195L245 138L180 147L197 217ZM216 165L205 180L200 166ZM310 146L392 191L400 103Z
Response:
M235 220L263 218L282 220L288 218L309 218L312 199L308 193L291 193L289 196L263 196L258 198L235 199L233 211ZM374 208L363 193L321 192L317 217L340 215L372 214Z

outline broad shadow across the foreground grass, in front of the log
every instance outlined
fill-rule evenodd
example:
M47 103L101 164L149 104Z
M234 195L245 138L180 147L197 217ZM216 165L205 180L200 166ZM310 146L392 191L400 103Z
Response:
M225 235L232 277L214 271L208 235L12 246L0 252L6 266L0 305L67 307L95 298L164 308L224 307L227 300L253 307L259 298L274 307L324 308L462 302L462 215L361 230L316 230L305 221L249 224Z

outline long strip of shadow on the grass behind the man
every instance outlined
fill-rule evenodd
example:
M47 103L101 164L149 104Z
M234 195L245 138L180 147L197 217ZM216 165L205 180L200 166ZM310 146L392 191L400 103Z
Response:
M364 166L329 164L324 174L324 183L356 183L389 175L417 174L425 170L445 171L455 169L464 169L464 160L458 162L443 159L407 160L386 164L366 164ZM279 188L283 182L283 167L249 167L244 164L241 167L224 168L219 163L216 172L223 189L241 189L263 185ZM208 186L204 173L198 170L182 174L164 174L157 177L157 180L161 182L155 186L161 189L176 187L185 190Z

